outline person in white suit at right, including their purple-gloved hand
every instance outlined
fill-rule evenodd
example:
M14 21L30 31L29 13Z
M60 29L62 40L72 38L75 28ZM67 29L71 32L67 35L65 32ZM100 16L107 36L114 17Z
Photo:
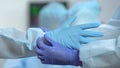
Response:
M48 44L44 42L38 42L36 52L38 53L39 59L41 61L44 59L45 61L43 60L43 63L45 64L79 64L83 68L120 68L120 7L106 25L101 25L94 30L103 31L105 36L99 38L97 41L81 45L78 52L73 52L74 50L70 50L69 48L55 45L59 43L46 36L46 40L51 43L52 47L48 47ZM59 47L59 49L57 47ZM44 50L41 50L41 48ZM49 51L47 51L47 49L49 49ZM53 49L57 50L53 52ZM53 53L51 53L51 51ZM48 56L47 53L50 53L54 58ZM61 61L56 57L57 55L61 56ZM71 59L74 64L70 63Z

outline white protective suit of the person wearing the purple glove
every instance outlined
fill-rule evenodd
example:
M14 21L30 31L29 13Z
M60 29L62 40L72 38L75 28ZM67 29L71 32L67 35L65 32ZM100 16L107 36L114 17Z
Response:
M107 25L97 30L105 36L80 48L83 68L120 68L120 7Z

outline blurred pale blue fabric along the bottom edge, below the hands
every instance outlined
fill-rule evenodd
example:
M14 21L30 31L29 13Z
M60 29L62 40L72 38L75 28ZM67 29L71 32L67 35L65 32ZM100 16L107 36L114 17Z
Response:
M40 60L35 57L27 57L21 59L9 59L4 64L3 68L80 68L70 65L47 65L42 64Z

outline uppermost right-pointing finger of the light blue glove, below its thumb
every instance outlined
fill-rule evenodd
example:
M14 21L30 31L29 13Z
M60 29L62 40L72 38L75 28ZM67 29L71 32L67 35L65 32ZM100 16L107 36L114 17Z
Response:
M93 23L79 25L81 29L96 28L98 26L100 26L100 22L93 22Z

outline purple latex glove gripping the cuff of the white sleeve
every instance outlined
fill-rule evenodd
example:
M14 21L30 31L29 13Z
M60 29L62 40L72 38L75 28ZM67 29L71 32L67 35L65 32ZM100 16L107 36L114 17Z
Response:
M54 65L75 65L81 66L82 62L79 60L79 51L69 49L63 45L53 41L45 35L45 40L38 38L36 53L43 64Z

